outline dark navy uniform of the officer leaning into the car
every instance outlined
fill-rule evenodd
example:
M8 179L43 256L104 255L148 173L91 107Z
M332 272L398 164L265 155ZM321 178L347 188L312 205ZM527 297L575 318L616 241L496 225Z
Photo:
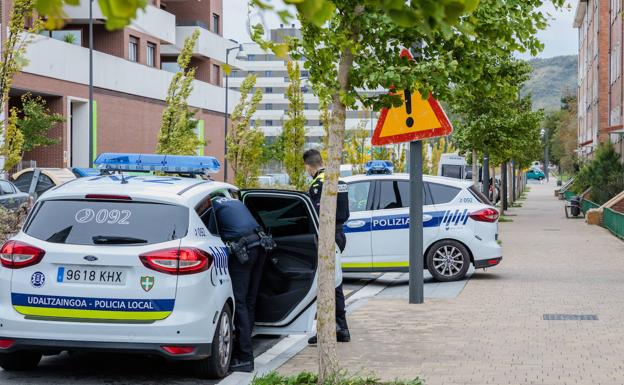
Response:
M266 253L260 247L256 230L258 222L245 204L237 199L219 198L213 202L219 235L225 242L237 242L248 239L247 255L249 260L241 263L234 255L228 256L228 267L232 278L232 290L236 304L234 317L235 342L233 359L251 361L253 364L253 346L251 332L255 322L256 297L262 276Z

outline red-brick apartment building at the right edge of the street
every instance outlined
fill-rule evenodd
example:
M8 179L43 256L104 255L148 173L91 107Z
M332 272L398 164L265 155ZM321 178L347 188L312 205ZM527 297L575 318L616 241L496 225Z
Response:
M591 157L610 141L624 154L624 79L622 0L580 0L578 29L578 146Z

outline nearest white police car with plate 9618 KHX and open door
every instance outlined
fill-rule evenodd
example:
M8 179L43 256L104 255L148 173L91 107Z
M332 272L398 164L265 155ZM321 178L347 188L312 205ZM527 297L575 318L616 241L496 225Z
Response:
M219 167L210 157L164 155L103 154L96 162L109 170ZM43 194L2 246L0 366L28 370L42 354L95 350L192 360L196 375L224 376L235 309L227 251L210 221L215 197L242 199L277 242L264 268L256 332L311 331L318 219L305 194L101 175Z

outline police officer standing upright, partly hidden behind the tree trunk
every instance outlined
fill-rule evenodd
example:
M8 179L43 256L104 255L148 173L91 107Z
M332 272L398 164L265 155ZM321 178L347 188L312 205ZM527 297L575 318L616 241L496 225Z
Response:
M303 153L303 163L306 172L313 178L310 184L310 198L319 213L321 207L321 193L323 191L323 182L325 181L325 168L323 166L323 158L317 150L308 150ZM338 201L336 203L336 244L343 252L347 245L347 237L345 236L343 225L349 219L349 190L344 182L338 183ZM347 313L345 311L345 298L342 291L342 283L336 288L336 339L338 342L349 342L351 335L349 334L349 326L347 325ZM316 336L308 340L309 344L317 342Z

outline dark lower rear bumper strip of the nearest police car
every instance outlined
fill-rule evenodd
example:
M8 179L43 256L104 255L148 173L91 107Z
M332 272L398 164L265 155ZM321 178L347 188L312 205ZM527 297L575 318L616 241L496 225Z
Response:
M0 336L0 340L5 337ZM35 350L41 352L96 351L115 353L153 354L172 360L198 360L210 356L212 344L156 344L156 343L122 343L122 342L94 342L94 341L64 341L30 338L8 338L15 341L7 349L0 349L0 354L8 354L20 350ZM193 351L184 354L172 354L164 346L193 347Z

